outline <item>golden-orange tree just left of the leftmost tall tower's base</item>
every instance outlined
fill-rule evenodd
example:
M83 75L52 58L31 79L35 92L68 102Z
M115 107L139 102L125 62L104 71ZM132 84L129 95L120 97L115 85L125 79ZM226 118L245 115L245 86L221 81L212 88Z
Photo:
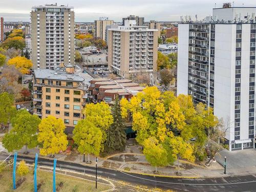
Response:
M26 57L14 57L8 60L8 65L15 66L16 69L20 71L22 74L27 74L29 69L33 66L32 61L27 59Z

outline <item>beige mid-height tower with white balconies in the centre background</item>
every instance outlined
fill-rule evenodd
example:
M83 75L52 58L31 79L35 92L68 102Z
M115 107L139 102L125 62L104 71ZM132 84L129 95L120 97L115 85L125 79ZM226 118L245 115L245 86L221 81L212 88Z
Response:
M125 20L124 26L108 32L110 70L123 78L138 72L157 71L157 29L136 26L135 20Z

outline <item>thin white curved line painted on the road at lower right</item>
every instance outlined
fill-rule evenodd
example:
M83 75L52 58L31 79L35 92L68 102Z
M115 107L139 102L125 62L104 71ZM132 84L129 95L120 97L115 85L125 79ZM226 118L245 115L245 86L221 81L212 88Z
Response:
M121 171L120 171L121 172ZM125 175L128 175L130 177L135 177L137 179L142 179L142 180L147 180L147 181L152 181L152 182L158 182L158 183L166 183L166 184L176 184L176 185L234 185L234 184L244 184L244 183L254 183L256 182L256 180L254 181L243 181L243 182L234 182L234 183L174 183L174 182L165 182L165 181L157 181L157 180L151 180L151 179L145 179L145 178L141 178L141 177L137 177L137 176L133 176L124 172L121 172ZM182 179L182 178L180 178Z

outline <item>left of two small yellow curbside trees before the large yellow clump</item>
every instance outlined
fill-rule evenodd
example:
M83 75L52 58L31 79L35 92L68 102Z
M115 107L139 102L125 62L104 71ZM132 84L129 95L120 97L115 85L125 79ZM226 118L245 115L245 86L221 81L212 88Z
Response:
M157 166L166 166L168 164L167 152L156 138L150 137L145 139L143 146L143 154L146 160L156 167L156 172Z

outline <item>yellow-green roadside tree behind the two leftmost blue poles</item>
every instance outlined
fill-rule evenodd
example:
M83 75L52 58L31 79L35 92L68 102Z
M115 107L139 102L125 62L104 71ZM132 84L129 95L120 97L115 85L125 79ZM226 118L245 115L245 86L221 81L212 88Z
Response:
M3 138L3 145L8 152L20 150L25 145L25 154L28 154L28 147L34 148L37 145L36 133L40 121L37 115L31 115L27 110L19 110L11 119L12 130Z

